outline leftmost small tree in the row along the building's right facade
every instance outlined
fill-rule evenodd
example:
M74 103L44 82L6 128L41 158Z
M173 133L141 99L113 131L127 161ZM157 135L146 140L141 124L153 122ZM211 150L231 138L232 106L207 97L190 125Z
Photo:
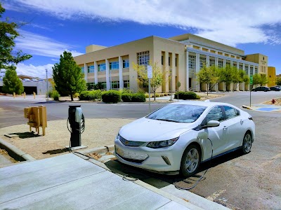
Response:
M207 95L211 89L218 83L218 69L216 66L207 67L205 64L202 69L197 73L197 80L207 85Z

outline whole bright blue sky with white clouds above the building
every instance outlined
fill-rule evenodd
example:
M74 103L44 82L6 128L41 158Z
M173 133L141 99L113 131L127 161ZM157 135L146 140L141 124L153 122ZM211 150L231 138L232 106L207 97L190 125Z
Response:
M268 55L281 73L280 0L2 0L4 18L27 22L16 47L33 57L18 74L44 78L64 50L73 56L86 45L112 46L147 36L196 34Z

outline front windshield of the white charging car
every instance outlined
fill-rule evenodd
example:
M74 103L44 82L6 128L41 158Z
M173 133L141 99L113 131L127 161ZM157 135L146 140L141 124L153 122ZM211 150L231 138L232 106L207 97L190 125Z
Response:
M202 115L206 108L207 106L169 104L151 113L146 118L176 123L193 123Z

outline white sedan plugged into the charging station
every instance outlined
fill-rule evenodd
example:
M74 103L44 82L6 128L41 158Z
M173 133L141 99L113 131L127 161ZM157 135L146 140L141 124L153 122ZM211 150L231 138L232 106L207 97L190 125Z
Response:
M240 149L251 151L255 125L249 113L226 103L176 102L124 125L115 156L126 165L192 176L201 162Z

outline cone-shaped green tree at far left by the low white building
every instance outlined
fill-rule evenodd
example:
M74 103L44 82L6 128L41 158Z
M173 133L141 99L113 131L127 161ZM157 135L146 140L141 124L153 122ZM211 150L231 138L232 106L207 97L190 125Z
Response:
M15 66L8 66L6 68L5 76L3 78L3 92L22 94L24 89L22 81L18 78L17 71L15 71Z

